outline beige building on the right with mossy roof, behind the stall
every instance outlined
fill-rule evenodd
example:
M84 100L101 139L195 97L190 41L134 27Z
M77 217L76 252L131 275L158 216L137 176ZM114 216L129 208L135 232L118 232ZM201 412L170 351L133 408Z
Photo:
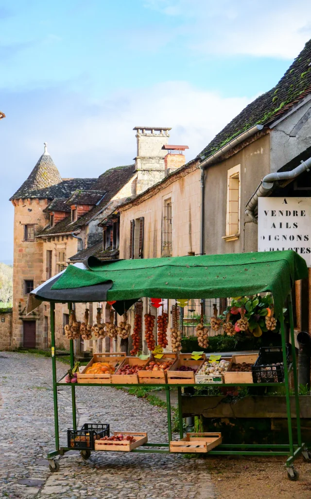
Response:
M119 207L120 258L257 251L258 198L311 197L310 60L311 40L196 158ZM310 283L293 294L296 328L311 332Z

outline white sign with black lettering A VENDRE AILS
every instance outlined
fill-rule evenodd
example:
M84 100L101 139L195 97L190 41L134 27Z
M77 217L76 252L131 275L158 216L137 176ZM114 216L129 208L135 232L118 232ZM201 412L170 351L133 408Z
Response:
M311 267L311 198L258 198L258 251L294 250Z

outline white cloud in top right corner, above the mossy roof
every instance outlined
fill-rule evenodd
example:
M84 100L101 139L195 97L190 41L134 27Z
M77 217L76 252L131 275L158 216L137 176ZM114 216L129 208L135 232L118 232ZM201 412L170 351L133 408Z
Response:
M174 16L185 47L216 55L292 59L311 38L310 0L143 0ZM176 23L178 24L176 26Z

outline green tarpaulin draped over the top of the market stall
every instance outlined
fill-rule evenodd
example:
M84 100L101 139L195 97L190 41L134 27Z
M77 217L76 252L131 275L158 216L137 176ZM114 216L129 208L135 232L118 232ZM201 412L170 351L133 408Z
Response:
M217 298L271 291L278 315L295 280L308 276L295 251L228 253L102 262L88 260L89 270L69 265L52 289L113 285L107 300Z

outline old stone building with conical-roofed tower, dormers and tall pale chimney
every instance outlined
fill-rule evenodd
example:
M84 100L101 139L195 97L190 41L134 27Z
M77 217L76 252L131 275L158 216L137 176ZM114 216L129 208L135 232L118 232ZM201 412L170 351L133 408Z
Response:
M137 188L140 192L164 176L167 151L162 147L170 129L152 130L148 134L137 129L135 165L111 168L98 178L63 179L45 143L34 169L10 198L14 206L12 348L49 345L49 305L41 304L25 314L27 296L34 287L84 254L96 253L103 259L118 255L118 235L108 231L109 241L103 248L103 229L98 224L135 196ZM89 308L92 320L96 306L90 303ZM77 306L80 319L84 310L85 306ZM55 329L60 347L68 346L64 336L68 318L67 305L57 304ZM79 351L83 345L76 348Z

